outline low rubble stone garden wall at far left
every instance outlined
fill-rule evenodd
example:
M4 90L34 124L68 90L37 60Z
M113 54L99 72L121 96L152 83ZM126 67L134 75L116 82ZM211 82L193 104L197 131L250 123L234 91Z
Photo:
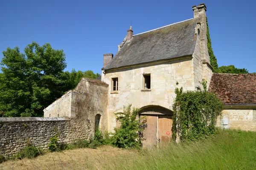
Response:
M86 121L64 118L0 118L0 154L12 156L28 143L48 149L49 138L58 134L60 143L89 139L91 127Z

